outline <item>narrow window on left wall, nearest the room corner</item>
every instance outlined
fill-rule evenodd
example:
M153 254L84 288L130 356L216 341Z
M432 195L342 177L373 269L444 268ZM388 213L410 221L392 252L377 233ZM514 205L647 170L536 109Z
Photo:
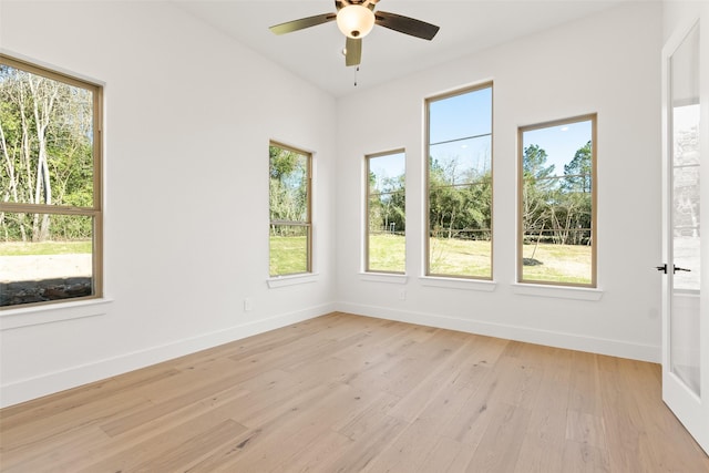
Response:
M311 155L270 143L269 273L270 276L311 271Z

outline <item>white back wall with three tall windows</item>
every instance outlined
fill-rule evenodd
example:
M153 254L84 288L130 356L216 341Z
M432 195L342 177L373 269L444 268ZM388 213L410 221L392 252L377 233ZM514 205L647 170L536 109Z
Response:
M629 2L339 101L338 123L348 126L337 141L338 307L659 361L661 40L661 6ZM494 81L495 284L431 286L421 277L423 101L487 80ZM517 126L592 112L598 114L599 290L520 294ZM390 284L360 274L364 189L356 176L363 176L364 154L398 147L407 150L408 277ZM594 297L599 300L584 300Z

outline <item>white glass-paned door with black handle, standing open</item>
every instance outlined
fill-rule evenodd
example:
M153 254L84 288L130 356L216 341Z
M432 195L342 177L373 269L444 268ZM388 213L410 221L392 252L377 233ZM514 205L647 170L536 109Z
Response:
M662 399L709 452L709 18L662 50Z

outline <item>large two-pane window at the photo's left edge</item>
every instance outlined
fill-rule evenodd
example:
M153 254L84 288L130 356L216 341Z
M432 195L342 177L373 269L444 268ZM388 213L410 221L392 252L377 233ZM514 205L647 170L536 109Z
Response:
M102 296L101 106L0 54L0 308Z

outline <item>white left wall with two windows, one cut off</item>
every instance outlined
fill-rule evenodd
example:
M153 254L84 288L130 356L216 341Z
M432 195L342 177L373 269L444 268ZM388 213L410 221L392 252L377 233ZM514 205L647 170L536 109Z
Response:
M0 14L3 52L105 84L110 299L3 311L2 404L333 309L335 99L167 3L3 1ZM316 153L326 196L318 276L277 289L269 138Z

